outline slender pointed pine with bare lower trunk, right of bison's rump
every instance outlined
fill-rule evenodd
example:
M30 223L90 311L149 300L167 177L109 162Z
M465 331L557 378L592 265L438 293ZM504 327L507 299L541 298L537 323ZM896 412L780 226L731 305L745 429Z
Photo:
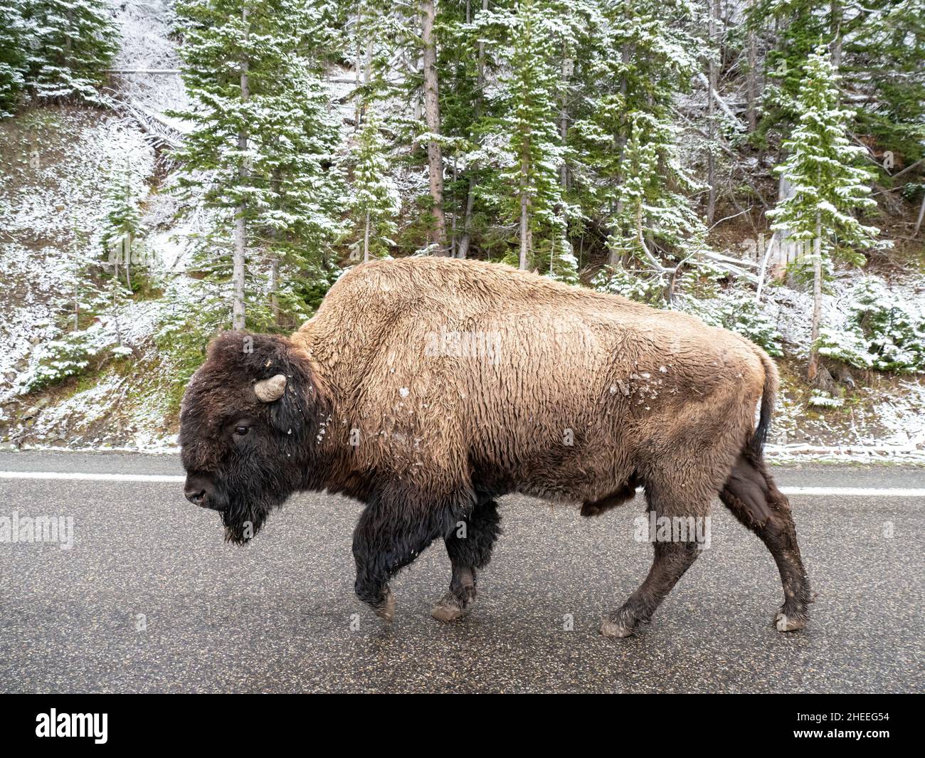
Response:
M820 45L809 56L806 75L800 84L796 107L799 124L783 143L788 156L775 170L793 186L792 196L769 211L771 229L789 230L796 242L812 241L808 262L813 267L812 341L808 378L816 379L818 340L821 323L823 269L834 258L862 264L863 249L880 247L879 230L865 226L853 215L857 209L870 209L873 175L857 165L863 147L852 145L846 125L854 113L839 106L840 76L829 51Z

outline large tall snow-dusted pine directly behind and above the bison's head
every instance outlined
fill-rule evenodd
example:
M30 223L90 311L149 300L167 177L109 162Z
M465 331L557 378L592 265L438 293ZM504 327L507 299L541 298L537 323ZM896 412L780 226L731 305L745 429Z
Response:
M201 196L215 214L200 259L219 277L228 274L228 255L210 247L233 223L235 329L244 327L248 281L252 291L261 286L253 271L258 253L269 260L266 290L277 320L280 265L323 265L339 232L338 134L320 78L332 12L328 3L296 0L178 6L184 81L194 104L177 114L193 125L177 154L179 188L191 200ZM301 317L296 300L292 315Z

